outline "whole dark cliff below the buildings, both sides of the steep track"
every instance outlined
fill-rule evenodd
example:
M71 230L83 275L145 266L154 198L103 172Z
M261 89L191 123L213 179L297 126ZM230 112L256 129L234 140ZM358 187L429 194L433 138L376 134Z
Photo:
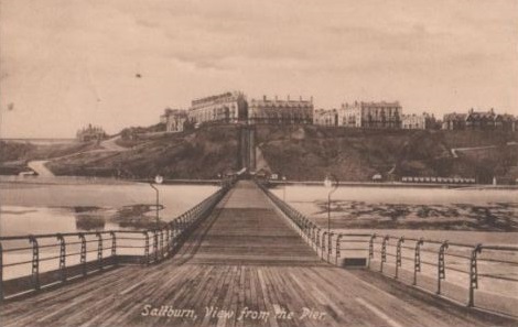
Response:
M242 165L240 127L207 126L142 140L119 140L127 151L102 151L102 144L82 145L51 161L57 175L148 178L215 178ZM518 133L482 131L358 130L316 126L257 126L257 168L290 179L320 181L327 173L342 181L371 181L401 176L477 177L515 179L518 172ZM10 152L10 151L9 151ZM50 157L44 149L23 149L9 160ZM54 151L55 152L55 149ZM10 152L12 154L12 152ZM60 153L63 155L63 153ZM7 156L7 155L6 155Z

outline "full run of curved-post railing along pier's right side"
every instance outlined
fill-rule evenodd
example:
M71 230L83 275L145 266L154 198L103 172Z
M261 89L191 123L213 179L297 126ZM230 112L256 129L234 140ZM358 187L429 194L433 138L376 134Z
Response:
M322 260L367 268L468 307L516 316L518 247L328 232L259 187Z

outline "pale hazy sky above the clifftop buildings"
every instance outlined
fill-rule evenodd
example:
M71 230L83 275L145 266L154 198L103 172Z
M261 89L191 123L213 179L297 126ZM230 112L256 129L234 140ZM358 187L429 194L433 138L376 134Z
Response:
M518 0L0 0L0 137L116 133L227 90L518 115L517 52Z

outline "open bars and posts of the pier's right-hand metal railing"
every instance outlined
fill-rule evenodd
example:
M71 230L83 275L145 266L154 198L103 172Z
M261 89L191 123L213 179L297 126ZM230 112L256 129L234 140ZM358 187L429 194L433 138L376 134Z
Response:
M327 252L328 257L332 254L333 242L328 237L327 231L323 231L315 222L300 214L289 204L280 199L278 196L272 194L267 189L265 185L258 183L258 186L263 190L268 196L271 203L282 211L284 218L291 222L291 225L298 230L301 237L314 249L316 254L324 260L324 252ZM376 233L365 233L365 232L338 232L334 233L336 237L336 246L334 247L335 260L334 264L341 265L341 258L344 257L344 251L353 251L357 253L363 250L361 255L366 258L366 268L375 269L371 264L371 261L377 258L379 265L377 265L379 273L390 274L390 271L387 269L384 270L384 265L390 264L393 270L393 277L406 282L403 277L400 276L400 270L403 269L404 262L413 262L412 268L406 268L407 270L412 270L413 279L410 277L409 285L420 287L418 285L418 275L422 272L421 265L428 265L436 268L436 273L434 279L436 281L436 288L430 292L432 294L438 294L441 296L450 296L450 294L442 293L442 281L446 280L446 271L457 274L468 275L470 283L467 290L467 303L466 306L475 306L475 294L478 288L479 277L485 279L499 279L503 282L507 283L518 283L518 280L511 276L501 276L495 272L492 273L479 273L477 262L484 261L486 264L494 264L494 266L501 265L518 265L516 260L518 255L518 247L516 246L501 246L501 244L474 244L474 243L464 243L464 242L451 242L444 240L431 240L425 238L407 238L403 236L391 236L385 235L382 237L377 236ZM325 238L327 237L327 242ZM357 239L352 239L357 238ZM403 246L402 243L407 243ZM365 248L359 248L358 243L365 243ZM352 244L352 246L350 246ZM326 249L327 246L327 249ZM346 248L344 248L346 247ZM387 248L395 249L395 253L388 253ZM402 254L402 249L413 252L413 259L404 257ZM446 251L447 249L447 251ZM456 252L455 252L456 251ZM496 251L496 252L495 252ZM479 258L481 253L487 252L490 258ZM376 254L379 253L379 254ZM424 254L423 254L424 253ZM493 255L497 253L498 255ZM430 255L438 255L435 262L430 262ZM379 257L378 257L379 255ZM508 255L509 258L506 258ZM390 258L390 260L387 259ZM422 260L422 257L425 257L428 260ZM461 259L461 262L453 263L446 262L446 258ZM333 263L327 259L327 262ZM466 269L461 269L461 264L467 264ZM432 274L433 275L433 274ZM432 276L433 279L433 276ZM511 285L516 287L516 284ZM497 310L494 307L484 307L484 309ZM510 314L505 312L505 314Z

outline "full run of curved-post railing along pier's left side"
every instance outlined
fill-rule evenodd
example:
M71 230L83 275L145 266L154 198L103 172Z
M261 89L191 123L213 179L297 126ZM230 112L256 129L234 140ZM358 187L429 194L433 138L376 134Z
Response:
M160 228L0 237L0 301L37 292L122 264L173 257L231 183Z

